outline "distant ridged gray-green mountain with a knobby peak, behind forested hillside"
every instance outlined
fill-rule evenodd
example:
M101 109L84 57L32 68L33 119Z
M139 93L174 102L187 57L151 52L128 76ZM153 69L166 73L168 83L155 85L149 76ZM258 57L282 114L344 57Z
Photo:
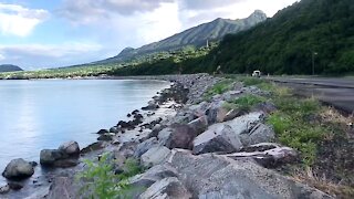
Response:
M96 63L122 62L150 53L179 50L187 45L206 45L207 41L219 41L226 34L250 29L266 19L266 13L260 10L256 10L246 19L229 20L219 18L139 49L126 48L118 55Z

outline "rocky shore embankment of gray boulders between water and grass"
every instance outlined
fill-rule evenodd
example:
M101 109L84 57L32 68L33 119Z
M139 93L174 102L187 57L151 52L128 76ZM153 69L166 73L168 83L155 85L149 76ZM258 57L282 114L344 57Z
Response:
M267 97L267 92L233 82L230 91L206 98L205 93L220 77L194 74L143 78L173 84L146 107L129 113L129 121L98 130L97 143L81 150L75 142L42 150L40 164L54 171L37 179L37 185L25 186L21 198L81 198L81 185L74 176L85 169L82 159L95 161L104 153L110 154L115 170L122 169L128 158L146 168L128 180L133 187L144 187L134 192L135 198L331 198L277 171L296 163L298 151L277 144L274 130L264 123L277 109L273 104L259 103L248 111L225 106L249 94ZM3 176L23 179L33 174L33 166L14 160ZM10 184L2 187L1 192L8 193L0 196L19 196L10 189Z

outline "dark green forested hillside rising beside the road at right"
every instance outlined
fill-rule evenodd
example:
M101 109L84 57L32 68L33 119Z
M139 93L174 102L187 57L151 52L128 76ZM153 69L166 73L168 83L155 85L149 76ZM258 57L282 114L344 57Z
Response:
M227 35L199 71L218 65L227 73L354 74L353 0L302 0L248 31Z

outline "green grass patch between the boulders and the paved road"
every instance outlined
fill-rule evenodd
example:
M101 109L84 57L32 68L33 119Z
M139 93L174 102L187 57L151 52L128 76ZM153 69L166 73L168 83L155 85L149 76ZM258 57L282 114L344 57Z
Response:
M312 166L316 160L317 148L329 130L321 126L321 104L315 98L298 98L290 91L273 90L272 101L278 112L267 118L281 144L301 153L302 163Z

